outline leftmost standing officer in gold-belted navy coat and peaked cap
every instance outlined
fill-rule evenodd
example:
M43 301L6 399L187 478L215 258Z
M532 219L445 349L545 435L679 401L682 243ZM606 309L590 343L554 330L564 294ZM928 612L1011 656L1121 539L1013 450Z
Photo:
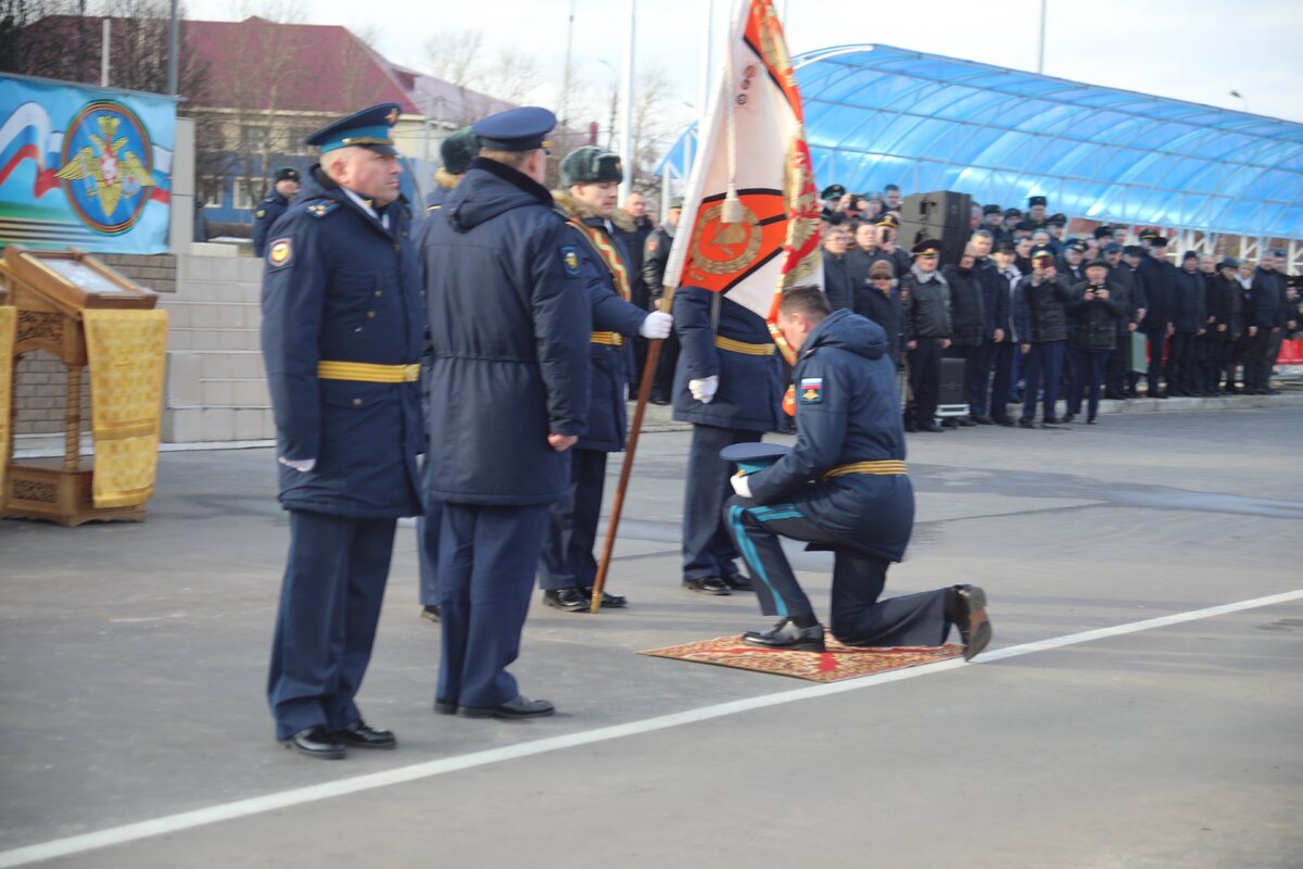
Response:
M396 745L353 697L396 520L421 513L421 287L397 116L375 106L309 135L321 163L267 244L262 353L291 535L267 700L276 737L311 757Z

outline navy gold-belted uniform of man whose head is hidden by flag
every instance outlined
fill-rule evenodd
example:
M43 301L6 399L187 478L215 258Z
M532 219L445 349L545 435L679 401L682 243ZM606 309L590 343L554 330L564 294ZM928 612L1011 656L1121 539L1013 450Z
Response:
M701 287L674 293L679 365L674 378L674 418L692 423L683 506L683 580L711 594L745 586L737 577L737 550L721 508L732 491L731 468L719 451L754 443L778 431L783 417L782 363L765 321L727 296ZM718 326L715 326L718 323ZM691 380L719 378L706 404L692 397Z

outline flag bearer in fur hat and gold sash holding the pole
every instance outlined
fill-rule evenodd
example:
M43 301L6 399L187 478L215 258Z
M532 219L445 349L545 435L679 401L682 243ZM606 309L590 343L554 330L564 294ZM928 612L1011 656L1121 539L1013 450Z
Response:
M624 449L624 401L633 379L632 339L663 339L674 327L668 314L649 314L629 301L633 275L611 224L623 178L619 155L585 145L562 160L562 189L552 193L575 231L571 241L584 259L593 304L588 430L571 451L569 491L549 515L538 580L543 603L571 612L589 608L597 580L593 543L602 515L606 455ZM618 594L602 593L603 607L625 603Z

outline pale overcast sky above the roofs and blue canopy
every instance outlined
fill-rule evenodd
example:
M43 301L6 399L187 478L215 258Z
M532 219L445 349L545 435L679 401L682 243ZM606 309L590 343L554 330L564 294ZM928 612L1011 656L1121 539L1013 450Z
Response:
M670 111L688 120L698 102L706 0L636 0L636 57L659 66L676 89ZM627 0L266 0L240 12L229 0L189 0L189 17L278 17L291 8L313 23L343 25L375 36L391 60L427 66L425 42L440 29L481 30L490 56L529 53L551 73L538 95L547 103L562 78L567 18L580 78L610 89L623 68ZM714 0L723 25L731 0ZM838 44L880 43L1036 69L1040 0L777 0L787 9L794 55ZM1303 122L1303 0L1048 0L1045 74L1157 94ZM1230 95L1239 91L1244 100ZM607 90L609 93L609 90ZM598 103L599 104L599 103ZM597 111L597 109L594 109ZM601 117L593 120L602 120Z

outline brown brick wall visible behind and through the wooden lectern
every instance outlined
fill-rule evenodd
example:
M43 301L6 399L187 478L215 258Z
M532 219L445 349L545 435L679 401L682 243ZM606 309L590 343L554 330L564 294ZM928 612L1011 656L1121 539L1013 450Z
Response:
M172 254L95 254L109 268L156 293L176 292ZM51 353L25 353L13 371L16 435L61 434L68 371ZM82 371L82 431L90 431L90 377Z

